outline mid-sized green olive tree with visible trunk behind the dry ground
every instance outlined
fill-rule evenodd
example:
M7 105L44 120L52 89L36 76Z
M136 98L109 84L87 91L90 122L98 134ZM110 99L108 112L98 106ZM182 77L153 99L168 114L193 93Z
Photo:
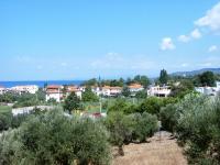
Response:
M144 142L157 130L157 118L146 112L124 114L122 111L113 111L105 123L110 132L110 142L119 146L120 155L123 155L123 144Z

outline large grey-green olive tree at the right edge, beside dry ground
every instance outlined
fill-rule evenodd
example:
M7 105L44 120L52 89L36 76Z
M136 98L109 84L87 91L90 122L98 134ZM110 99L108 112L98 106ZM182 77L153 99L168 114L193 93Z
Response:
M220 97L187 95L161 111L163 128L186 146L190 164L220 164Z

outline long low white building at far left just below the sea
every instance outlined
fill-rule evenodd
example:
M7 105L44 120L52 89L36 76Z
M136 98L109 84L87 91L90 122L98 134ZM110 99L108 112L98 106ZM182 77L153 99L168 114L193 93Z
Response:
M26 85L26 86L15 86L10 88L10 90L18 92L18 94L36 94L36 91L38 90L38 86L36 85Z

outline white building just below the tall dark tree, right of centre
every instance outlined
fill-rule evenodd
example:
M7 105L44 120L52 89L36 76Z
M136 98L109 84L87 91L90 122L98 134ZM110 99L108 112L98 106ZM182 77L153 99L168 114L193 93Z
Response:
M148 96L155 96L155 97L167 97L170 92L172 90L169 86L163 86L163 87L153 86L150 87L150 89L147 90Z

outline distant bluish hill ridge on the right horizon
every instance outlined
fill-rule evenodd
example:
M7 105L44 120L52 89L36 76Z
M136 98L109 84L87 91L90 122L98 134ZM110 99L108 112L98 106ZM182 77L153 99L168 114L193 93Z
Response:
M212 72L213 74L220 74L220 68L202 68L198 70L193 70L193 72L177 72L170 74L170 76L195 76L202 74L205 72Z

